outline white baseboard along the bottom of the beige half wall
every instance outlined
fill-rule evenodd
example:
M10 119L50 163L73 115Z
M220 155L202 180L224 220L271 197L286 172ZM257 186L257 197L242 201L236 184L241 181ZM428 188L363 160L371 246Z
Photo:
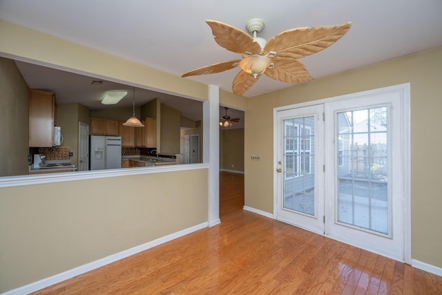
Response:
M200 229L204 229L204 227L207 227L207 226L208 226L208 223L203 222L200 225L195 225L193 227L189 227L188 229L183 229L182 231L177 231L174 234L170 234L170 235L164 236L162 238L157 238L156 240L153 240L151 242L146 242L143 245L135 246L131 249L126 249L126 250L121 251L119 253L115 253L115 254L112 254L112 255L107 256L105 258L95 260L91 263L87 263L86 265L81 265L79 267L75 267L74 269L70 269L66 272L56 274L55 276L50 276L49 278L44 278L42 280L38 280L35 283L30 283L29 285L25 285L25 286L19 287L17 289L12 289L10 291L2 293L1 295L19 295L19 294L22 295L22 294L29 294L32 292L36 292L40 289L44 289L46 287L49 287L50 285L55 285L55 284L60 283L64 280L68 280L69 278L73 278L74 276L79 276L80 274L90 272L91 270L97 269L98 267L102 267L104 265L114 263L117 260L126 258L128 256L132 256L134 254L137 254L137 253L147 250L147 249L151 249L157 245L164 244L165 242L169 242L171 240L174 240L175 238L180 238L181 236L185 236L186 234L191 234L193 231L198 231Z

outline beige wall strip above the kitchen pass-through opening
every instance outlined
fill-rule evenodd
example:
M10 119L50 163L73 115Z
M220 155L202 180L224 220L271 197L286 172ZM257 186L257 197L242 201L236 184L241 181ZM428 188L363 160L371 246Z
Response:
M113 82L132 82L153 90L160 89L202 101L208 99L207 86L202 83L23 28L8 21L0 20L0 40L0 53L3 56L39 61L39 64L57 68L75 69L76 73L85 73L91 77L109 77Z

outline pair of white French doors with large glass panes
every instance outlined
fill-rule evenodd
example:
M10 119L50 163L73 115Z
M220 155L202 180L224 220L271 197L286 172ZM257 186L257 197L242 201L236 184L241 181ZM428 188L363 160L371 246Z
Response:
M276 111L276 218L410 262L409 101L402 85Z

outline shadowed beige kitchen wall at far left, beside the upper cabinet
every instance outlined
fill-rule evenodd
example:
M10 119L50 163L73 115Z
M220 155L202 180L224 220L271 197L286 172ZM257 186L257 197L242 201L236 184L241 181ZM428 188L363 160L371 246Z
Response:
M29 88L15 62L0 57L0 176L29 173Z

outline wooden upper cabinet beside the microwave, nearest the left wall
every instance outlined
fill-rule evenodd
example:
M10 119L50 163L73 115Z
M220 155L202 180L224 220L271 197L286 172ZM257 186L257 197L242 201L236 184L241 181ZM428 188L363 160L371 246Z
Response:
M29 146L51 147L54 140L55 93L30 90Z

